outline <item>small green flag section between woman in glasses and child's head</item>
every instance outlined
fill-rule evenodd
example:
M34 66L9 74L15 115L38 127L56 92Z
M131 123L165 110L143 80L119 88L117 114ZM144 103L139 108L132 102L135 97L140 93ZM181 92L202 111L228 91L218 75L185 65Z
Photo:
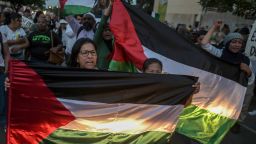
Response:
M109 64L109 70L111 71L123 71L123 72L137 72L137 68L130 62L119 62L112 60Z

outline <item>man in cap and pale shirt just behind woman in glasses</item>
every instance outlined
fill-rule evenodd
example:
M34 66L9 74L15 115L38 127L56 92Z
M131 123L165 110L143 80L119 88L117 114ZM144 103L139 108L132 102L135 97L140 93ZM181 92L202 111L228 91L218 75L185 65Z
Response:
M73 32L76 34L77 40L80 38L93 39L96 24L94 14L92 14L91 12L84 14L82 25L80 25L73 16L68 16L66 20L71 26Z

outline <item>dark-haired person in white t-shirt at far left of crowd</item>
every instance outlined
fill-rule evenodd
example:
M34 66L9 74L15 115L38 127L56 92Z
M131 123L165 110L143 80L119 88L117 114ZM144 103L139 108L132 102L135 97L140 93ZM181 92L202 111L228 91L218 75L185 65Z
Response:
M24 59L23 50L28 47L26 33L21 28L22 16L11 13L8 25L1 26L1 33L7 38L10 54L15 59Z

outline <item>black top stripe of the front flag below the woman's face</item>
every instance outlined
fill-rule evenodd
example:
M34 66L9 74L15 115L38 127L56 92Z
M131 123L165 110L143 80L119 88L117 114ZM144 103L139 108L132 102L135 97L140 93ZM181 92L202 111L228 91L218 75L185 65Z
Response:
M43 77L56 97L101 103L184 104L198 79L169 74L30 67Z

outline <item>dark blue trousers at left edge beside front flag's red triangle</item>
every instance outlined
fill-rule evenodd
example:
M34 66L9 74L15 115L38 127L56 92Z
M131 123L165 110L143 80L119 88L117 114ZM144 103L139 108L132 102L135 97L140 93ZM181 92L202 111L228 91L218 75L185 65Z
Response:
M0 125L5 124L6 122L7 99L6 99L6 93L4 90L4 81L5 81L5 74L3 72L0 72Z

